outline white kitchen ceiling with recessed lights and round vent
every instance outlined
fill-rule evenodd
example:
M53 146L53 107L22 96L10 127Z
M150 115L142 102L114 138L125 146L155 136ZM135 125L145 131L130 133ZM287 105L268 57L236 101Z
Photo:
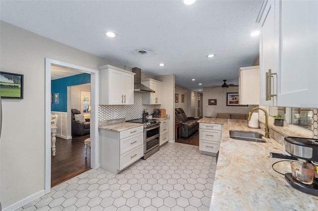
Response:
M173 73L176 84L195 91L223 79L238 84L239 67L251 66L259 54L259 37L250 33L258 30L260 0L0 3L2 21L154 76ZM108 30L117 37L105 37Z

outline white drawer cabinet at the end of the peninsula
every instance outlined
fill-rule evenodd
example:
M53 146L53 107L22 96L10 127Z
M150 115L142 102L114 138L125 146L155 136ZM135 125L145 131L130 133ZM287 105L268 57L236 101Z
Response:
M220 149L221 139L221 124L199 124L199 150L201 154L215 156Z

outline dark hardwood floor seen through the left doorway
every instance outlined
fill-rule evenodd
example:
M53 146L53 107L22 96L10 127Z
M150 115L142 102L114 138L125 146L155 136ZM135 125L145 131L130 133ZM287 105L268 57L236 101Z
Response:
M89 134L69 140L56 137L56 156L51 156L51 187L90 169L89 147L87 158L84 153L87 138Z

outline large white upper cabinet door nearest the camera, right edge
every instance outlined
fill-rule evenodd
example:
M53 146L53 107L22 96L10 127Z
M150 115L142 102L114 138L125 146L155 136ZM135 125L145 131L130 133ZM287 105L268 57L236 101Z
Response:
M318 1L281 1L278 106L318 107Z

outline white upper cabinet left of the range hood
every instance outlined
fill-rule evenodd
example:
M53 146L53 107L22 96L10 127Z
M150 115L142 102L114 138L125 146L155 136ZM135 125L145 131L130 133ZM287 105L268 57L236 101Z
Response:
M133 105L135 73L104 65L99 71L100 105Z

